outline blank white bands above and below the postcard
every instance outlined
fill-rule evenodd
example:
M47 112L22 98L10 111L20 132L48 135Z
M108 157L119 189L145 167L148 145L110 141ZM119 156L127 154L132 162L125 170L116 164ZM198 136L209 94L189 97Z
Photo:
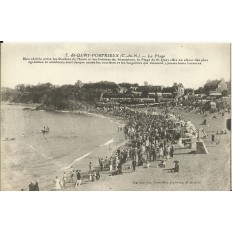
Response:
M5 42L231 42L231 1L1 1ZM229 192L1 192L1 231L223 231Z

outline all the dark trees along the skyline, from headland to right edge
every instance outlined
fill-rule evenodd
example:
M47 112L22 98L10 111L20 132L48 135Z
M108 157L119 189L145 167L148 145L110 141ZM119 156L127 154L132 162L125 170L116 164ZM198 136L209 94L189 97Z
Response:
M209 93L214 89L219 80L207 81L195 93ZM174 93L177 85L164 87L163 93ZM187 90L187 89L185 89ZM76 110L93 107L104 96L120 96L125 98L136 97L136 92L141 93L142 98L147 98L150 92L157 92L155 86L139 86L137 83L119 83L110 81L100 81L95 83L82 83L78 80L74 85L55 86L51 83L39 83L37 85L20 84L15 89L1 88L1 100L13 103L36 103L40 104L38 109L46 110ZM186 92L186 91L185 91ZM223 96L228 95L229 91L224 91Z

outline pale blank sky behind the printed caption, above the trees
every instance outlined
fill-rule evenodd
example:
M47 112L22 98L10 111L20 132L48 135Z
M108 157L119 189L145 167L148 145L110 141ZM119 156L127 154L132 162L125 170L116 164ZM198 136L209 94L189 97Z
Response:
M162 43L3 43L1 86L50 82L54 85L97 81L130 82L142 85L172 86L182 83L198 88L207 80L230 80L229 44L162 44ZM159 55L165 59L205 59L201 65L96 65L96 64L29 64L26 58L65 57L74 54Z

